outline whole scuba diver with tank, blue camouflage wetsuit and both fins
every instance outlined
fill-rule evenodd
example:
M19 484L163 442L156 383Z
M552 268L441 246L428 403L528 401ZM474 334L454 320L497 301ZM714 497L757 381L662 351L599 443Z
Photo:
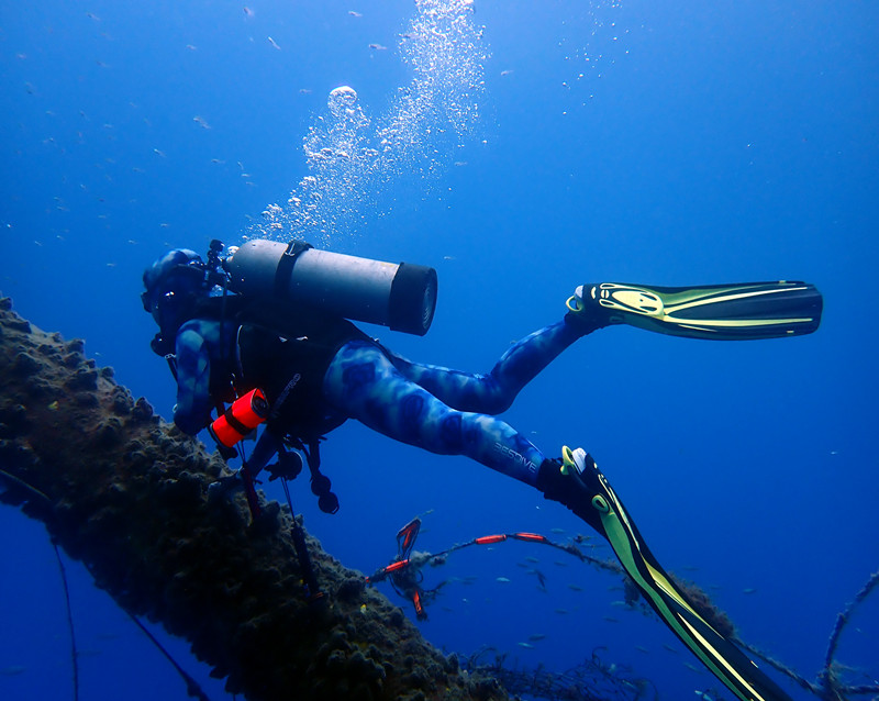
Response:
M823 304L813 286L582 285L560 321L515 343L487 375L472 375L408 360L348 321L423 335L436 303L432 268L300 242L252 240L223 253L220 242L207 262L171 251L145 270L142 294L159 326L152 347L177 380L177 426L191 435L210 426L231 455L265 424L242 469L212 490L243 486L253 509L253 478L276 456L276 469L296 475L301 452L320 508L334 512L318 450L347 419L432 453L467 456L538 489L607 538L647 603L738 699L789 699L688 603L586 450L563 446L560 458L552 457L497 414L563 350L605 326L709 340L812 333Z

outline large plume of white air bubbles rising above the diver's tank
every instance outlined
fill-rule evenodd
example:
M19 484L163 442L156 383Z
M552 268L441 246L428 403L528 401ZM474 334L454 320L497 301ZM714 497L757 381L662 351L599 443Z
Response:
M377 193L413 178L426 190L450 167L479 121L481 29L472 25L472 0L415 0L415 7L399 41L410 84L375 123L354 88L333 89L302 140L309 175L286 209L266 208L268 222L248 233L329 245L360 229L367 212L382 215Z

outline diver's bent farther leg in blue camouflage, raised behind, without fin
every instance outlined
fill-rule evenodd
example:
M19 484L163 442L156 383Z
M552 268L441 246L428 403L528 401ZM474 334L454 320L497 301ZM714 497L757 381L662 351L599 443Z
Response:
M563 350L597 327L570 318L568 314L565 320L516 342L488 375L412 363L393 352L388 352L388 355L403 376L449 407L499 414L509 409L522 388Z

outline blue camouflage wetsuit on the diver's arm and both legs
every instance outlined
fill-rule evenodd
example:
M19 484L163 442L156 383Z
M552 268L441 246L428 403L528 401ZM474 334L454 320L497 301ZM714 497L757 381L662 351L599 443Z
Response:
M224 322L222 331L221 341L220 322L196 319L177 334L174 420L190 434L210 422L212 376L214 382L225 377L235 357L237 326ZM534 486L546 456L493 414L507 410L527 382L588 331L567 320L546 326L513 345L488 375L420 365L375 342L349 341L323 377L324 409L402 443L465 455Z

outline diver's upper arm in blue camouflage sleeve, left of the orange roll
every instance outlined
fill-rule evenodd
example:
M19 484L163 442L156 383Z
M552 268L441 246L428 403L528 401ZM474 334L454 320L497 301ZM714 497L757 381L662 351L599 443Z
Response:
M196 435L211 421L211 358L208 343L193 329L183 326L177 334L177 404L174 423L183 433Z

